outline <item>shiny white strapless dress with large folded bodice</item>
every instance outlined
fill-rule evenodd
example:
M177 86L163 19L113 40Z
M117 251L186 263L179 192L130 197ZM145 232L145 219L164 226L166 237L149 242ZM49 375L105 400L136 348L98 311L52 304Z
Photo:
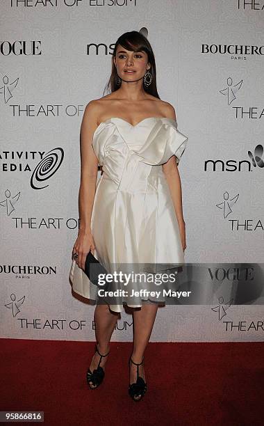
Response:
M104 173L97 180L91 228L94 257L108 272L118 267L123 271L124 264L133 264L133 270L135 265L147 264L147 271L155 274L184 263L178 221L162 164L172 155L179 164L187 141L172 118L145 118L133 126L113 117L95 130L92 146ZM76 293L97 300L97 286L75 260L69 278ZM155 283L145 283L144 288L146 285L156 290ZM121 312L123 303L140 307L147 299L156 300L119 297L110 308Z

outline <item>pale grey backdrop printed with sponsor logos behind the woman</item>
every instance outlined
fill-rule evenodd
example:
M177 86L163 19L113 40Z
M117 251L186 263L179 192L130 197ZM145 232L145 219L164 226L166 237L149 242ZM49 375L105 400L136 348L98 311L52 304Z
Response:
M1 337L94 340L94 305L69 281L80 127L85 105L107 94L117 38L135 30L189 138L179 172L191 297L158 309L151 341L263 340L264 0L0 8ZM124 310L113 340L132 336Z

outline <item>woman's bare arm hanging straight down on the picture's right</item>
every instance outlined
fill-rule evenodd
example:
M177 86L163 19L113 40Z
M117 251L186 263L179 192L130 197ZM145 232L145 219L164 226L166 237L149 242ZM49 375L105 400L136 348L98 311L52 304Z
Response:
M167 184L170 188L170 194L172 196L172 201L174 204L174 209L176 217L179 224L179 230L181 234L181 244L183 246L183 251L186 248L186 237L185 237L185 221L183 219L183 203L182 203L182 191L181 191L181 178L179 175L178 166L176 163L175 155L167 161L167 163L162 165L163 173L167 180Z

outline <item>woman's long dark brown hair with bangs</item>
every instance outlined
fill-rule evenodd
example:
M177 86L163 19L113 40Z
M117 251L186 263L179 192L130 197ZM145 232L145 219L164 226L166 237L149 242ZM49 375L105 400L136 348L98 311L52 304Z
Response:
M118 45L122 45L122 47L124 47L124 49L126 50L132 50L134 52L142 51L147 53L148 62L151 65L151 67L149 68L149 72L152 75L152 80L149 86L145 86L143 81L143 88L145 92L160 99L156 86L156 63L154 53L149 43L149 40L147 40L147 38L138 31L128 31L122 34L122 36L120 36L119 38L117 38L117 41L115 43L115 49L113 50L112 72L110 75L110 79L108 80L108 83L106 84L106 87L104 89L104 93L106 92L106 90L108 90L108 92L110 93L113 93L115 92L115 90L120 88L120 86L117 85L118 75L117 68L115 67L114 63L114 57L116 56Z

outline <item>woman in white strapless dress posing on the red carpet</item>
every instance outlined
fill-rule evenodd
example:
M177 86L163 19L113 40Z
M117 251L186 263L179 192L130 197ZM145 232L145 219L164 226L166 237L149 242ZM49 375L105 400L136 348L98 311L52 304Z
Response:
M177 130L172 105L158 96L154 53L141 33L118 38L109 87L109 95L85 107L81 124L81 224L71 278L76 292L94 300L97 287L83 273L89 251L113 271L114 264L126 262L181 263L186 247L177 164L188 138ZM103 170L99 181L98 163ZM143 361L158 309L155 298L97 304L97 345L87 380L97 388L104 379L123 303L133 307L129 395L139 401L147 390Z

